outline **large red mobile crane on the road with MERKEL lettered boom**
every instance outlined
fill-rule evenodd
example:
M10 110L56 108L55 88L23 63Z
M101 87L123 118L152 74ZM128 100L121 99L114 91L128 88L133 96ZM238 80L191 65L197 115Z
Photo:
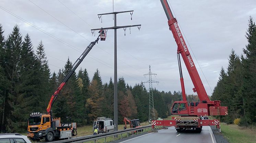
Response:
M205 87L202 84L200 76L197 72L194 61L188 51L188 47L182 36L181 30L177 24L176 18L174 18L171 9L167 3L167 0L160 0L164 9L164 12L168 19L168 25L172 31L175 42L178 46L177 57L179 74L182 88L183 101L175 101L172 105L172 114L178 115L173 117L172 120L153 120L152 129L154 126L175 126L175 129L180 132L185 129L195 129L201 132L202 126L216 125L220 129L220 120L208 119L203 116L209 115L228 115L228 107L221 106L220 101L210 101ZM194 84L193 91L197 92L200 102L187 102L185 87L182 75L180 55L183 58L185 66L188 70L189 76ZM220 130L219 130L220 131Z

